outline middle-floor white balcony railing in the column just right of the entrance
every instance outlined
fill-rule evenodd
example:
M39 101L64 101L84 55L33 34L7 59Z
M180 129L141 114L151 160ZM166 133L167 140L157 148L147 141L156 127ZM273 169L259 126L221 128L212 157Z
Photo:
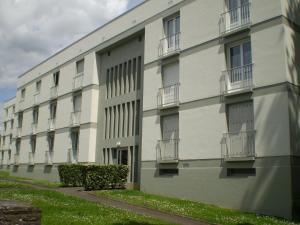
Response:
M158 108L179 106L179 84L160 88L157 94Z

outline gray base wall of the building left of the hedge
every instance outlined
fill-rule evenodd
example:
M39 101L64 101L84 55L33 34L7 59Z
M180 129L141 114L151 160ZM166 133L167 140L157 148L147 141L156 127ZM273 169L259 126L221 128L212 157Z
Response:
M19 165L19 166L6 166L0 167L0 171L9 172L11 176L25 177L37 180L49 180L52 182L59 181L57 165L45 166L37 164L34 166Z

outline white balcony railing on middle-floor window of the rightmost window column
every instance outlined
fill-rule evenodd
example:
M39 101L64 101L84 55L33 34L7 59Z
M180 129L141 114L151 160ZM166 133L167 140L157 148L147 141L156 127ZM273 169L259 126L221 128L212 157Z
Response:
M222 73L223 94L252 90L253 64L235 67Z

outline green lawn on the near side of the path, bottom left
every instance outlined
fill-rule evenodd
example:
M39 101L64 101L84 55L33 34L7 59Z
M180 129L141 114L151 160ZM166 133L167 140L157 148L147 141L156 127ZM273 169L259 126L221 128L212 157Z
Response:
M8 187L14 187L14 189L7 190ZM169 224L56 191L31 189L14 182L0 181L0 199L17 200L40 208L43 225Z

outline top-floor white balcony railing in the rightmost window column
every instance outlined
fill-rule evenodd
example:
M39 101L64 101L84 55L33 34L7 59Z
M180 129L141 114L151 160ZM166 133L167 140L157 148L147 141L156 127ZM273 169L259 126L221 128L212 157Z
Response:
M240 7L221 14L220 34L224 35L251 24L251 4L243 4Z

